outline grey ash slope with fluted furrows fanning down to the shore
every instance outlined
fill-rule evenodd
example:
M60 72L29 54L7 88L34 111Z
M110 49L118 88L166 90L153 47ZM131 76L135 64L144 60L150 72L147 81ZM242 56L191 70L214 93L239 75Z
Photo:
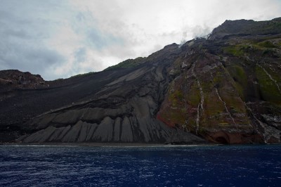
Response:
M179 53L181 49L178 45L171 44L153 53L138 67L100 73L98 79L102 80L103 84L99 87L97 81L91 80L94 77L88 77L86 82L53 90L43 89L43 98L56 96L60 98L55 101L64 101L65 98L60 94L65 94L65 97L75 96L77 101L34 117L21 127L27 135L21 136L18 141L204 142L202 138L181 129L167 127L156 119L156 113L169 84L167 67ZM118 76L114 76L115 72L119 72ZM97 86L96 92L91 89L89 96L77 93L86 91L89 86ZM48 95L48 91L51 91L51 95ZM34 98L37 98L36 93L30 100L34 101ZM77 96L82 98L77 99ZM25 101L27 100L28 98L25 98Z

